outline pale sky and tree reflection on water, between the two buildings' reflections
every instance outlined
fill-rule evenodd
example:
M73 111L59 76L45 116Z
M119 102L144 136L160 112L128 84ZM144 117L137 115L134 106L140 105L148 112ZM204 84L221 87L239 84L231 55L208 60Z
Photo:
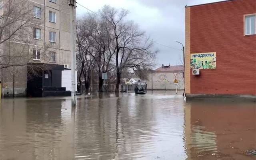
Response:
M76 159L186 158L182 97L120 93L79 103Z

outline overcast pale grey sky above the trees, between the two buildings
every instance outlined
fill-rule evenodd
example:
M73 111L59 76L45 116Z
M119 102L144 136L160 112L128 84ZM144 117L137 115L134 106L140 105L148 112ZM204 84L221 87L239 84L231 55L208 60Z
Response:
M130 11L129 20L134 20L141 30L154 39L159 49L156 59L161 64L179 65L182 58L182 46L185 44L185 8L184 6L218 2L222 0L76 0L92 11L98 11L105 4ZM77 5L77 16L89 12ZM169 47L166 47L169 46ZM158 67L157 66L157 67Z

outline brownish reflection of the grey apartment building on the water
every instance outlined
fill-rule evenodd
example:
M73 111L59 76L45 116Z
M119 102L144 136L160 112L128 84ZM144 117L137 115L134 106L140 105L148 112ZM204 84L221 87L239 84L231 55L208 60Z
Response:
M71 126L70 118L62 115L65 101L50 98L3 100L0 159L72 159L72 135L67 130Z

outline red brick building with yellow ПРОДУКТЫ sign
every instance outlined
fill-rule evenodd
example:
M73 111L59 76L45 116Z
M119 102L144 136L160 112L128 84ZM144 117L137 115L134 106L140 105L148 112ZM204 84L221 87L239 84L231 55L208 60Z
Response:
M187 96L256 96L256 0L186 6L185 75Z

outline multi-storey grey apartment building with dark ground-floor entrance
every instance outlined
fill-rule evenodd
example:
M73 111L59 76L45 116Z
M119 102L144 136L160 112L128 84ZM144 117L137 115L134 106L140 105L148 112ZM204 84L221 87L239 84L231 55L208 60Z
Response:
M17 0L16 0L17 1ZM28 23L25 42L9 40L3 52L27 52L29 64L44 69L39 75L28 75L27 66L10 67L1 71L4 96L70 95L71 48L70 12L67 0L28 0L32 19ZM11 50L11 51L10 51ZM21 58L22 59L22 58ZM13 72L12 72L13 71Z

